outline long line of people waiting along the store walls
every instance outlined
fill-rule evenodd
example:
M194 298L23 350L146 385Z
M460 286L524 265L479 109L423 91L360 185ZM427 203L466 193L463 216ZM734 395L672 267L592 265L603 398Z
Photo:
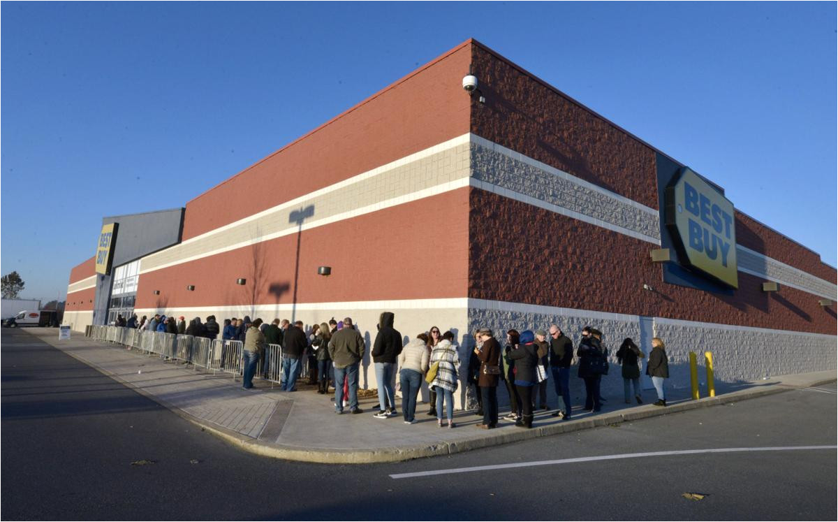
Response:
M380 314L377 334L370 357L375 368L378 383L379 410L376 418L385 419L396 413L396 391L401 390L401 413L406 424L416 422L416 402L422 388L422 380L428 384L430 408L427 415L437 417L437 425L454 427L453 394L458 389L461 368L460 350L452 331L442 332L432 326L427 332L404 342L401 332L394 327L395 314ZM146 316L132 322L140 329L186 333L197 337L215 338L219 326L215 316L207 317L201 323L196 317L185 325L184 317L176 324L173 317ZM174 329L174 331L173 331ZM282 390L297 391L297 378L303 364L308 364L308 384L318 384L318 394L328 394L334 386L334 407L336 413L343 413L348 407L353 414L363 413L358 404L358 381L360 363L365 357L365 341L352 319L335 321L334 317L311 329L304 329L303 321L292 324L287 319L275 319L263 324L261 319L251 321L249 316L241 319L227 319L220 331L222 339L241 341L244 344L244 379L242 386L252 388L258 363L261 361L263 377L268 378L269 361L266 344L282 346ZM493 429L498 425L497 387L500 381L510 397L510 414L505 420L515 425L532 427L536 405L541 410L550 410L547 405L547 381L552 378L556 395L561 397L563 409L553 416L564 420L572 419L570 394L570 373L574 354L578 359L577 377L585 385L584 410L597 412L605 399L600 394L603 375L608 374L608 348L603 345L603 333L591 326L582 329L582 340L576 350L572 341L557 325L548 331L506 332L506 343L501 349L494 332L482 328L474 333L475 347L465 362L466 382L473 387L478 410L483 417L478 424L481 429ZM548 340L549 339L549 340ZM226 350L226 345L224 350ZM225 361L222 353L222 367ZM640 390L640 361L646 354L626 338L615 354L621 366L624 400L643 404ZM549 373L548 373L549 372ZM646 373L651 377L658 399L654 405L665 406L665 378L669 377L669 364L664 342L659 337L652 340ZM396 385L394 386L394 382Z

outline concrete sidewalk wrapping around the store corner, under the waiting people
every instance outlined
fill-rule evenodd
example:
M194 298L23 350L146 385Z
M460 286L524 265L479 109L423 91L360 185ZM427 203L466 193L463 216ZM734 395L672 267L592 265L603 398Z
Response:
M503 420L497 429L477 430L474 425L482 419L472 411L459 411L454 414L456 427L448 429L437 427L436 418L425 415L427 405L422 403L416 407L414 425L404 424L401 414L375 419L377 398L360 400L362 415L335 415L330 400L334 395L317 394L313 386L301 385L299 391L285 393L255 380L255 388L246 390L241 388L241 378L234 381L230 374L196 372L184 364L165 363L157 356L96 342L77 332L71 340L59 341L54 328L26 331L247 451L306 462L398 462L448 455L835 381L835 371L785 375L727 386L717 389L716 397L699 400L689 399L689 390L667 389L665 408L649 404L654 392L644 394L647 404L641 406L625 405L622 396L610 396L597 414L582 413L575 403L573 420L541 411L531 430ZM401 400L397 402L401 408ZM501 410L500 415L506 413Z

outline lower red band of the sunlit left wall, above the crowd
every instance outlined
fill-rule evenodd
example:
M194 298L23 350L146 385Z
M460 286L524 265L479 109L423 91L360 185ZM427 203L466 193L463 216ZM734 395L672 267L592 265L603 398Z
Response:
M137 308L292 303L296 253L294 234L141 274ZM299 263L297 302L464 297L468 187L303 231Z

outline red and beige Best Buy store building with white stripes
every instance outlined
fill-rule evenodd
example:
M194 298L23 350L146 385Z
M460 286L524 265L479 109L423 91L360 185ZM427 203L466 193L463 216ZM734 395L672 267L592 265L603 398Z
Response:
M468 40L184 208L106 217L65 321L351 316L371 342L387 310L463 359L555 322L662 337L675 386L690 351L729 382L834 369L835 268L699 172Z

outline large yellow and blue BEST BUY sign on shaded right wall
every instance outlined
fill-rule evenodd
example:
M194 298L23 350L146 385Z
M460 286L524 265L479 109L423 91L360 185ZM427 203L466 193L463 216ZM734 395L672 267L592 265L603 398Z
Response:
M738 288L733 203L684 167L666 188L665 213L681 263Z

